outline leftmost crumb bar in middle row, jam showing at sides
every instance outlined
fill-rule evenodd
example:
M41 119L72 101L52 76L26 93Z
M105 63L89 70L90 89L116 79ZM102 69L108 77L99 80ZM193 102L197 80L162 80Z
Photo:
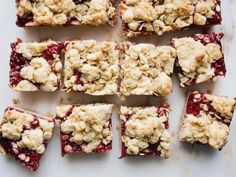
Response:
M56 91L61 81L63 44L55 41L11 44L10 87L16 91Z

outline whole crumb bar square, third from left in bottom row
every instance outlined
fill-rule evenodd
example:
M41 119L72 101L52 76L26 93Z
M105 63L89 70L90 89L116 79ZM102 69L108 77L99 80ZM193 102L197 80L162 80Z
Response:
M170 106L126 107L120 109L122 157L169 157Z

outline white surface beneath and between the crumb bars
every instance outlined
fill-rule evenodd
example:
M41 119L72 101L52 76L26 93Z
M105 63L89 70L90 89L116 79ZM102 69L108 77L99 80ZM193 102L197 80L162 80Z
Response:
M236 97L236 3L234 0L222 0L223 24L215 27L214 31L225 33L223 40L226 65L228 74L226 78L216 83L202 84L189 90L212 91L214 94ZM97 40L121 40L119 37L120 27L95 28L95 27L67 27L67 28L32 28L20 29L15 25L14 0L0 0L0 114L3 114L7 106L12 105L12 99L20 99L18 106L38 111L42 114L55 112L55 106L63 97L67 103L91 103L111 102L120 104L117 97L91 97L81 94L58 93L16 93L8 87L9 72L9 44L17 37L24 41L39 41L45 38L54 40L65 39L97 39ZM119 25L120 26L120 25ZM167 44L172 37L179 37L201 32L200 30L189 30L162 37L141 37L138 42L151 42L156 45ZM184 107L187 89L180 89L176 77L174 77L174 92L168 98L173 111L170 116L170 131L173 135L171 145L171 156L168 160L157 157L131 157L119 160L119 132L117 130L117 111L113 116L113 150L107 154L96 155L73 155L62 158L60 156L58 129L49 143L46 154L41 161L41 166L36 173L29 172L12 158L0 157L1 177L141 177L141 176L165 176L165 177L234 177L236 164L236 117L231 125L231 134L228 144L221 151L214 151L206 147L196 146L194 149L189 145L183 145L177 140L177 130ZM68 99L70 98L70 99ZM158 99L155 97L133 97L127 100L129 105L156 105Z

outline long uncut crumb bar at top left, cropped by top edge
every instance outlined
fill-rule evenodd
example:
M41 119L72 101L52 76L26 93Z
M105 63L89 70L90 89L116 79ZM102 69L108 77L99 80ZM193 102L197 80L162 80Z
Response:
M114 25L113 0L16 0L19 27Z

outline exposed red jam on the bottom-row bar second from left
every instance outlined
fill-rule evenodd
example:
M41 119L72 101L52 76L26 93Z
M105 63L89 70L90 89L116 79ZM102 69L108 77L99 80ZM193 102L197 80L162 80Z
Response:
M70 108L70 110L67 112L66 117L70 116L74 109L74 106ZM59 120L60 118L58 118ZM112 122L110 120L109 127L111 128ZM78 145L75 142L71 142L70 139L72 138L71 134L65 134L63 132L60 132L60 140L61 140L61 155L64 157L66 154L76 154L83 152L82 144ZM70 146L70 149L67 149L66 146ZM92 151L92 153L102 153L102 152L108 152L112 149L112 141L108 143L107 145L101 143L96 149Z

